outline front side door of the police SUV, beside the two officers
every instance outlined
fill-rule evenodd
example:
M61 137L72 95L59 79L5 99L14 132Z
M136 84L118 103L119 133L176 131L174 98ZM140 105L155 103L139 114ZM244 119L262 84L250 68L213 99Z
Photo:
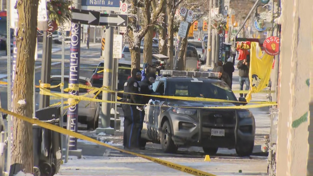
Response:
M155 92L156 88L158 87L159 81L155 81L155 83L152 84L152 89ZM147 104L145 108L145 117L143 120L143 127L141 131L141 136L144 138L148 138L152 140L153 138L153 130L151 125L153 124L153 112L154 112L154 100L150 99L149 103Z

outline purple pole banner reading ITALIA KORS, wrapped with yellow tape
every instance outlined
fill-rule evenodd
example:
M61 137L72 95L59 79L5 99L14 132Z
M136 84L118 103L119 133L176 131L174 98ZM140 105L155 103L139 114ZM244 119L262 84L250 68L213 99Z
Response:
M71 48L69 61L69 88L77 86L75 90L69 90L69 94L79 95L79 67L80 67L80 24L71 23ZM69 101L70 103L73 103ZM71 131L77 133L78 129L78 104L70 106L67 111L67 118L71 118ZM77 138L70 136L69 150L77 150Z

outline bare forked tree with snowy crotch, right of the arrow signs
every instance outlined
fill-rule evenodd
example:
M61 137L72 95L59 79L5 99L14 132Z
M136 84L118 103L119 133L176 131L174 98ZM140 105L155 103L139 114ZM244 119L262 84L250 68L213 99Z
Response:
M150 11L150 0L138 1L130 0L131 8L129 9L129 25L127 27L127 38L129 42L129 50L131 53L131 69L140 68L140 42L142 38L146 35L150 26L156 24L157 19L159 18L162 11L162 4L164 0L160 1L159 6L157 7L156 13L151 14L151 21L148 25L142 26L140 30L136 29L136 15L137 8L144 8L146 12Z

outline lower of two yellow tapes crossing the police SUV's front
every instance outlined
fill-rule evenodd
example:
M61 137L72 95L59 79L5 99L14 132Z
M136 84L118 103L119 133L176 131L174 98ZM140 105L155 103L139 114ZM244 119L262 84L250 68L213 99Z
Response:
M40 94L43 95L49 95L49 96L58 96L63 98L73 98L77 100L82 101L93 101L93 102L105 102L105 103L120 103L120 104L129 104L129 105L139 105L139 106L145 106L146 104L135 104L135 103L125 103L125 102L115 102L115 101L106 101L106 100L100 100L96 98L89 98L89 97L83 97L83 96L77 96L77 95L71 95L71 94L64 94L64 93L51 93L45 88L41 88ZM237 102L239 103L239 102ZM245 105L245 106L224 106L224 107L182 107L177 106L177 108L204 108L204 109L248 109L248 108L260 108L260 107L266 107L266 106L274 106L277 105L277 103L264 103L264 104L254 104L254 105ZM155 105L156 106L156 105ZM159 105L161 106L161 105ZM176 107L176 106L168 106L163 105L167 107Z

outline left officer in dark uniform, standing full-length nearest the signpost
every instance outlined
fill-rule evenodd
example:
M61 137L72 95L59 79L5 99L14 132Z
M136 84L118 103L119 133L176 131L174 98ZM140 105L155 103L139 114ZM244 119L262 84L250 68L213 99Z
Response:
M138 129L140 128L141 96L134 93L140 93L139 81L141 80L141 71L134 68L131 71L131 78L124 83L124 93L122 100L122 109L124 112L124 149L138 149ZM133 94L130 94L133 93ZM133 103L133 104L126 104ZM138 109L137 109L138 108Z

